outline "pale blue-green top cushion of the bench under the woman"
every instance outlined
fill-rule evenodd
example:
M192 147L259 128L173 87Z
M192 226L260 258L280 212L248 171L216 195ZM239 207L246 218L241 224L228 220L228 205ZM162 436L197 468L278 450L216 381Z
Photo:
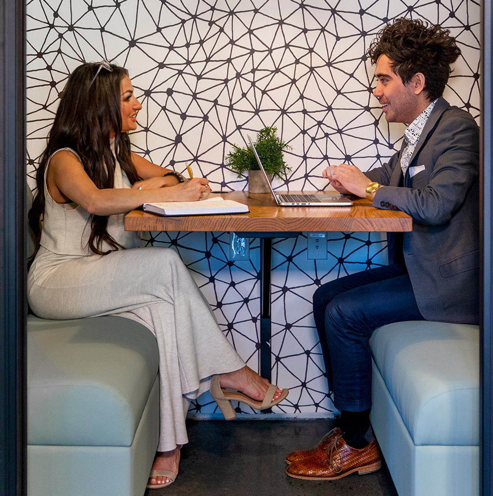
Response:
M28 444L130 446L159 366L154 334L117 316L28 316Z

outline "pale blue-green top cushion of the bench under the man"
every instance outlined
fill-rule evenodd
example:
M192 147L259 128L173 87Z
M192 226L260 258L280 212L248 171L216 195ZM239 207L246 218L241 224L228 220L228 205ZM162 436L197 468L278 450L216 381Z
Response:
M395 322L373 359L416 446L479 446L479 326Z

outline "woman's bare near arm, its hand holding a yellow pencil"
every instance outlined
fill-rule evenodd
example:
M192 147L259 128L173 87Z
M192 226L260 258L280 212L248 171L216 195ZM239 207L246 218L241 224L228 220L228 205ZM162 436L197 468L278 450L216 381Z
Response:
M157 172L154 167L163 171L158 165L146 167L148 172L153 169ZM79 159L69 150L60 150L53 155L47 173L48 192L55 202L73 201L94 215L122 214L142 203L196 201L202 198L207 183L205 178L194 178L175 186L153 189L99 189L86 174Z

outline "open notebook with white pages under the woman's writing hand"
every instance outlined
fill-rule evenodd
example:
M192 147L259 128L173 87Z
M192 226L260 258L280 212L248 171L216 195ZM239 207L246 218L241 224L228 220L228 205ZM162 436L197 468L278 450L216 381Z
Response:
M200 201L167 201L162 203L144 203L144 212L164 216L184 215L220 215L220 214L248 214L247 205L233 200L224 200L221 197L208 198Z

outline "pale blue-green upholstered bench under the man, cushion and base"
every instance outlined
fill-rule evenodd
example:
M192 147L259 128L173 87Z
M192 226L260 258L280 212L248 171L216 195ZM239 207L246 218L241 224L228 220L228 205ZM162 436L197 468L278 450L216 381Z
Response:
M372 427L399 496L479 495L479 327L377 329Z

